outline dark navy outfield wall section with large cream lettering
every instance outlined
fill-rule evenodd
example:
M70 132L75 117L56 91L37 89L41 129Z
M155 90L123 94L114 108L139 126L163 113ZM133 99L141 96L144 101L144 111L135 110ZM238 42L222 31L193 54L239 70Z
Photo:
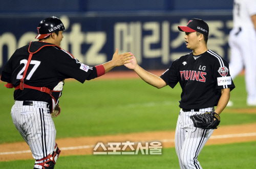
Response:
M132 52L145 69L165 69L189 53L184 32L177 26L190 18L202 18L209 27L208 48L228 60L228 34L232 28L231 11L205 12L131 12L131 13L54 13L0 15L0 71L14 51L35 40L38 22L59 17L65 27L61 47L88 65L111 60L119 53ZM126 69L124 66L115 70Z

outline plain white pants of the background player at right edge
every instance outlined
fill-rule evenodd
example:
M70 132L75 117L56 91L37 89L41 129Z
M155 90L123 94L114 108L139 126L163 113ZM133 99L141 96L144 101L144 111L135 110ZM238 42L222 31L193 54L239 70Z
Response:
M234 79L245 67L247 103L256 102L256 31L254 28L234 28L229 34L229 70Z

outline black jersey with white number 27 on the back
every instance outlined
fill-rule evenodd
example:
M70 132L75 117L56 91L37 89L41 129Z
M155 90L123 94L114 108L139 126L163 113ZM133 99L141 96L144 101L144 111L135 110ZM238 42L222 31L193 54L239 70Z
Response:
M1 80L18 86L28 62L28 50L36 52L42 46L49 44L36 41L31 42L30 48L29 45L25 45L17 49L4 66ZM83 83L85 80L96 77L97 70L95 67L82 64L58 46L45 46L33 54L24 83L34 87L47 87L52 90L63 79L74 78ZM52 102L49 94L30 88L15 90L14 100Z

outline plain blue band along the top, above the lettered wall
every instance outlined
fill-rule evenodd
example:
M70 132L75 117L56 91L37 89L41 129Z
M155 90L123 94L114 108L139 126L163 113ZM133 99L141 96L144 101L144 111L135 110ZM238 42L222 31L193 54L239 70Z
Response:
M0 13L24 12L124 12L232 9L233 0L44 0L0 1Z

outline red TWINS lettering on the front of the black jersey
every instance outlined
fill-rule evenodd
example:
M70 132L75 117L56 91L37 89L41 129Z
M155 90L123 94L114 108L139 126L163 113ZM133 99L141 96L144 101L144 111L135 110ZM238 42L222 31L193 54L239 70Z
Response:
M205 66L203 66L203 67L204 67L204 70L205 70ZM203 72L203 71L196 71L196 70L180 71L181 80L184 77L185 80L196 80L196 81L199 81L199 82L205 82L205 80L206 80L206 78L204 77L205 75L206 75L206 73Z

